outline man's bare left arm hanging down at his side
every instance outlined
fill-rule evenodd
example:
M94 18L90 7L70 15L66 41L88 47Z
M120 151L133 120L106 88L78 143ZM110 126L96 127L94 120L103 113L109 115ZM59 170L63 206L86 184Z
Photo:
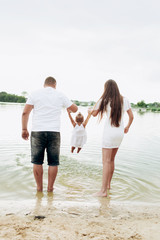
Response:
M33 109L33 105L26 104L22 113L22 138L28 140L29 132L27 129L29 114Z

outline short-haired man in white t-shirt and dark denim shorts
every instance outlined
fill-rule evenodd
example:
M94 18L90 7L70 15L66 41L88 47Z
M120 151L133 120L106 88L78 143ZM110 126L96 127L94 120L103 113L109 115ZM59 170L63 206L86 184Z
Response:
M64 94L56 90L56 80L46 78L44 88L33 92L28 98L22 113L22 138L28 140L27 130L30 112L33 109L31 131L31 162L37 183L37 191L43 191L43 161L47 151L48 161L48 192L53 191L53 185L58 172L60 153L60 114L61 109L76 112L78 107Z

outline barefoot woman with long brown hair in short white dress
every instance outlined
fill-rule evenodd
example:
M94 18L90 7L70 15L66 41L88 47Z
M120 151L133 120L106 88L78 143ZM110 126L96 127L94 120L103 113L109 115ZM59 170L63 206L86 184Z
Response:
M129 121L123 125L123 116L127 112ZM123 97L114 80L108 80L104 85L104 92L91 114L100 119L105 114L105 124L102 138L103 177L102 187L96 196L107 197L107 189L114 172L114 159L122 142L124 133L127 133L132 121L133 113L129 101Z

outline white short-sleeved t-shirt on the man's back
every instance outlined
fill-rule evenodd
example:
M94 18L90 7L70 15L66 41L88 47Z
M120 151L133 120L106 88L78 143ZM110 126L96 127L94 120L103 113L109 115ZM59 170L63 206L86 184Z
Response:
M61 110L73 103L55 88L45 87L33 92L26 104L34 106L32 131L60 132Z

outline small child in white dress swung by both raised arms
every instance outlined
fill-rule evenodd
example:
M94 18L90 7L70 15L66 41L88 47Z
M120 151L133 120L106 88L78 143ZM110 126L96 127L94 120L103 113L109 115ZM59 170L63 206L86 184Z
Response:
M71 138L71 146L72 146L71 152L73 153L74 149L77 147L78 148L77 153L79 153L83 145L87 141L87 133L86 133L85 127L88 123L91 113L88 111L88 116L85 121L84 121L83 115L81 113L78 113L74 121L71 116L71 112L69 110L67 111L68 111L68 115L71 120L71 123L73 124L73 127L74 127L72 138Z

